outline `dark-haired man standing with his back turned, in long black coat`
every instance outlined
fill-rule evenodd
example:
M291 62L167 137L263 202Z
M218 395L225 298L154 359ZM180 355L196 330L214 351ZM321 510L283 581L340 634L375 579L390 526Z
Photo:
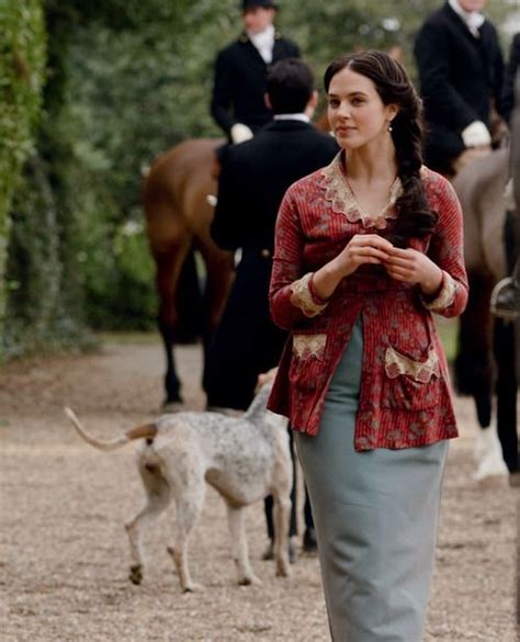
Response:
M206 356L204 390L210 407L247 408L258 374L278 365L286 340L269 312L278 210L294 181L328 165L338 151L335 139L309 123L317 93L305 63L289 58L271 67L267 95L273 121L251 140L227 148L218 182L211 233L217 245L240 248L242 256ZM291 536L296 534L295 504L293 499ZM315 540L308 500L305 522L304 549L310 550Z

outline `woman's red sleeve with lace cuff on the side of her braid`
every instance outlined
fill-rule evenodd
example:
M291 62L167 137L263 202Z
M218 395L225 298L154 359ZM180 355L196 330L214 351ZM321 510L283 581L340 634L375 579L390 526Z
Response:
M439 219L428 256L442 270L442 283L434 299L422 296L425 307L445 317L459 316L467 303L467 274L464 266L464 232L461 203L455 190L442 179Z

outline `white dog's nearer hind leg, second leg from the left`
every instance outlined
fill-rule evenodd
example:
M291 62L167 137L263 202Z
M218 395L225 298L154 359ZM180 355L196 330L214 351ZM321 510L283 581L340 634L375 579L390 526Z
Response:
M179 575L179 582L183 593L193 593L202 587L194 584L188 565L188 543L191 530L201 516L204 506L205 481L203 475L194 472L176 475L174 498L177 505L176 529L173 533L173 545L168 547Z

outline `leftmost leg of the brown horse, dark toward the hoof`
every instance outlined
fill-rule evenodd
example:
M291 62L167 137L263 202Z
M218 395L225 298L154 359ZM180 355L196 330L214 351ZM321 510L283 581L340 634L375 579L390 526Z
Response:
M182 244L172 244L155 252L157 266L157 292L159 294L159 331L165 345L167 370L165 375L165 404L182 403L180 381L177 375L173 356L176 342L176 324L179 315L177 311L176 293L182 264L190 249L190 239Z

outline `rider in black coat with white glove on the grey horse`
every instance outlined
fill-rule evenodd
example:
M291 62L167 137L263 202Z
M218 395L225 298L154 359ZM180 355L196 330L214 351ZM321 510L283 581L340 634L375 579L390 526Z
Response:
M426 162L448 174L457 159L490 148L493 102L501 113L504 59L497 32L481 13L486 2L448 0L415 43L429 129Z

